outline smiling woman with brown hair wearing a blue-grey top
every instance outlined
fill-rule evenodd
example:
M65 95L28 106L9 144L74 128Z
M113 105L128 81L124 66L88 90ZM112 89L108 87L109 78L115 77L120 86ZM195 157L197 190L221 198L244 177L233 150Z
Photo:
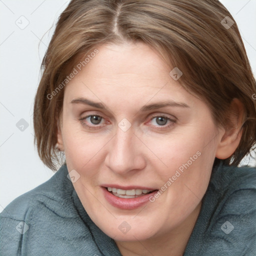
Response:
M255 255L256 85L221 3L72 0L42 68L62 166L1 213L2 255Z

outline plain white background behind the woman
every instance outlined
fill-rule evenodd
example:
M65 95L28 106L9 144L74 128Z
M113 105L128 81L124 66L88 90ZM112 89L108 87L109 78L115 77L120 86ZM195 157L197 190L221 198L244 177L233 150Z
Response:
M54 174L43 165L33 146L32 110L40 63L53 24L68 2L0 0L0 211ZM221 2L238 24L255 74L256 0ZM20 29L15 22L29 24ZM23 131L16 127L21 118L28 123Z

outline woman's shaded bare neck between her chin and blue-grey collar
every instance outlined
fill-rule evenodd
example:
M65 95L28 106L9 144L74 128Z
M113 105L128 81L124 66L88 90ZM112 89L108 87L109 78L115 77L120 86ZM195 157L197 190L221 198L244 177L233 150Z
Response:
M115 243L122 256L182 256L199 215L200 208L201 202L180 225L169 232L161 233L146 240L116 240Z

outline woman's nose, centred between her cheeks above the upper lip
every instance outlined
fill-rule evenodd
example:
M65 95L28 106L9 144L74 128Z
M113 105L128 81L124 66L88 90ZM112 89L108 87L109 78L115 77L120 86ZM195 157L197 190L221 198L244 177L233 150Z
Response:
M145 167L141 141L132 128L126 131L117 127L115 136L109 141L105 165L117 174L138 171Z

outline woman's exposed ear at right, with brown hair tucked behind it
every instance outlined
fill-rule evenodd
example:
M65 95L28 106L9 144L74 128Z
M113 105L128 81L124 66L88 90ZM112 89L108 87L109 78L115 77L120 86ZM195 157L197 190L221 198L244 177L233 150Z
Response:
M232 126L224 129L221 140L217 146L216 157L219 159L226 159L231 156L241 139L244 107L237 98L234 98L231 102L229 119Z

